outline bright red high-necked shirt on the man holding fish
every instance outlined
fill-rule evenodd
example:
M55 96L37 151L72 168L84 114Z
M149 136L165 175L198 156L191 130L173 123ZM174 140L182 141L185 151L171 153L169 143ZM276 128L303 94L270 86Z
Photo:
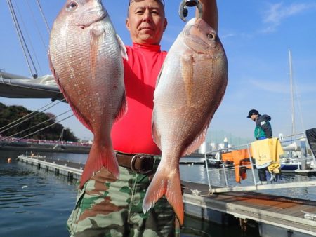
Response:
M112 128L114 150L124 153L161 154L152 140L152 109L157 76L166 57L157 45L126 46L124 60L127 113Z

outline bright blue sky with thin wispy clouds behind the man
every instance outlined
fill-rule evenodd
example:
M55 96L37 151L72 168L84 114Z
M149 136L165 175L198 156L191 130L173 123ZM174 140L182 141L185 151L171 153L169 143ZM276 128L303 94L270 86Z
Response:
M124 43L131 44L125 28L127 0L103 1ZM39 75L51 74L48 67L48 30L35 0L13 0L18 3L20 25L27 32L37 61ZM64 0L41 0L41 7L51 27L65 4ZM169 25L162 49L169 50L184 22L178 17L179 1L166 0ZM16 5L16 4L15 4ZM0 69L29 76L6 1L0 1L1 57ZM32 9L32 11L30 10ZM228 56L228 88L216 111L209 133L224 130L239 137L252 137L254 122L246 118L249 109L272 117L274 135L291 134L291 94L289 49L292 53L296 110L296 132L316 127L316 2L315 0L218 0L219 36ZM192 12L192 9L191 9ZM192 17L192 13L190 16ZM36 22L36 24L35 24ZM27 29L27 30L26 30ZM39 34L40 33L40 34ZM27 36L26 36L27 35ZM31 43L29 43L31 45ZM22 100L0 97L0 102L19 104L36 110L49 100ZM49 110L57 115L69 109L60 103ZM62 124L82 139L92 134L72 117Z

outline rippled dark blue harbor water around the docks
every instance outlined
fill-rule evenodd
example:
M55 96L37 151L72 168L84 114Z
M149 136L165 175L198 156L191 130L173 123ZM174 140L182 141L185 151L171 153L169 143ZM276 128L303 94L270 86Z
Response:
M70 181L63 175L56 176L53 172L15 161L20 154L20 151L0 151L0 236L69 236L66 222L77 195L76 180ZM81 163L87 158L87 154L37 154ZM11 163L7 162L8 158L12 158ZM180 165L180 175L182 180L207 182L204 165ZM284 178L315 179L296 175ZM316 200L315 187L279 189L273 194L276 192L282 196ZM259 233L256 224L249 224L246 232L242 232L238 224L221 226L186 216L181 236L256 237Z

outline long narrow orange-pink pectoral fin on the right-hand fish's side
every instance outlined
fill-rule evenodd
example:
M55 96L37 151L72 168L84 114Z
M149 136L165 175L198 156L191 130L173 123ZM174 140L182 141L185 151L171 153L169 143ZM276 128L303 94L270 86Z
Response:
M192 103L193 91L193 57L192 55L185 55L181 57L181 73L183 82L185 83L185 93L187 95L187 104Z

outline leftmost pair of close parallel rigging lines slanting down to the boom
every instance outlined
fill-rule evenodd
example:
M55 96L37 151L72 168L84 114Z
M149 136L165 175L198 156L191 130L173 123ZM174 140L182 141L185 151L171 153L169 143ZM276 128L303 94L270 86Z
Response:
M23 53L25 55L25 59L27 61L27 66L29 67L29 72L31 72L33 78L37 78L37 69L34 65L34 62L32 60L32 56L31 54L29 53L29 48L27 47L27 44L25 43L25 38L23 36L23 33L22 33L22 30L20 28L20 24L18 22L18 18L15 14L15 11L14 11L14 8L13 8L13 4L12 4L12 1L11 0L7 0L7 3L8 3L8 7L10 9L10 13L11 13L11 16L12 16L12 19L13 19L13 23L14 23L14 26L15 26L15 30L18 34L18 38L20 40L20 44L22 46L22 50L23 50ZM32 64L32 67L34 69L34 72L32 71L32 68L31 68L31 65L30 65L30 62Z

